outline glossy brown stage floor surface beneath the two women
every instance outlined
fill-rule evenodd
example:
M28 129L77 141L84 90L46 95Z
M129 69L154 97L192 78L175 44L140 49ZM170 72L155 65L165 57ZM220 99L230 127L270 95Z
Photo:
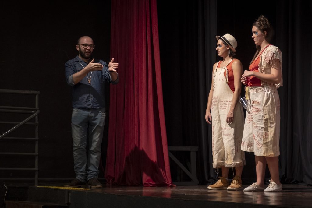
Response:
M284 184L283 191L280 192L209 190L207 186L103 186L102 189L91 189L90 191L116 195L151 196L185 201L234 202L239 204L271 205L279 207L312 207L312 187L291 184Z

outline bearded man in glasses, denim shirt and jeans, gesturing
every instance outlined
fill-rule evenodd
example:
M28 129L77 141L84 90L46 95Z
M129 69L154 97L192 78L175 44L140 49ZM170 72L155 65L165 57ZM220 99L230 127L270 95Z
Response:
M114 58L107 65L92 57L94 48L92 38L80 37L76 45L78 56L65 64L66 81L72 86L71 133L76 173L76 178L65 187L88 184L91 188L102 188L98 174L105 124L104 84L105 81L117 84L119 77Z

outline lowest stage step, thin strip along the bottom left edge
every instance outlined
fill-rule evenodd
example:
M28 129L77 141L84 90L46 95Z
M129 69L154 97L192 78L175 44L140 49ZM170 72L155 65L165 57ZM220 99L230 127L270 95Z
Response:
M6 201L6 208L68 208L67 205L43 203L39 201Z

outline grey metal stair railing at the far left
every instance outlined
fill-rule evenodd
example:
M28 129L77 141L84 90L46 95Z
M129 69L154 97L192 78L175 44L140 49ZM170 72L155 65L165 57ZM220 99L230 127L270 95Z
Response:
M0 112L2 113L16 113L16 114L31 114L26 119L21 122L11 122L11 121L0 121L0 124L16 124L6 132L0 135L0 143L3 140L11 141L34 141L35 152L0 152L0 155L30 155L35 157L35 167L34 168L5 168L0 167L0 170L13 170L13 171L35 171L35 186L38 186L38 114L39 114L39 91L28 91L28 90L12 90L12 89L0 89L0 94L24 94L24 95L35 95L35 107L16 107L16 106L0 106ZM31 119L35 119L34 122L29 122ZM34 137L7 137L7 135L22 125L34 125L35 126L35 136ZM23 180L27 178L12 178L12 180Z

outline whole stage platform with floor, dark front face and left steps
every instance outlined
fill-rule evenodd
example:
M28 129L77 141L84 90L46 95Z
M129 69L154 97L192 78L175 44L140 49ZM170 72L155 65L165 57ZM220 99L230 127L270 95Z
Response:
M103 186L71 190L64 184L8 184L7 203L40 201L59 207L312 207L312 186L283 184L280 192L208 190L207 186ZM247 185L244 185L246 187ZM12 206L13 207L13 206ZM42 206L43 207L43 206ZM48 206L46 206L48 207ZM10 206L7 206L10 208Z

